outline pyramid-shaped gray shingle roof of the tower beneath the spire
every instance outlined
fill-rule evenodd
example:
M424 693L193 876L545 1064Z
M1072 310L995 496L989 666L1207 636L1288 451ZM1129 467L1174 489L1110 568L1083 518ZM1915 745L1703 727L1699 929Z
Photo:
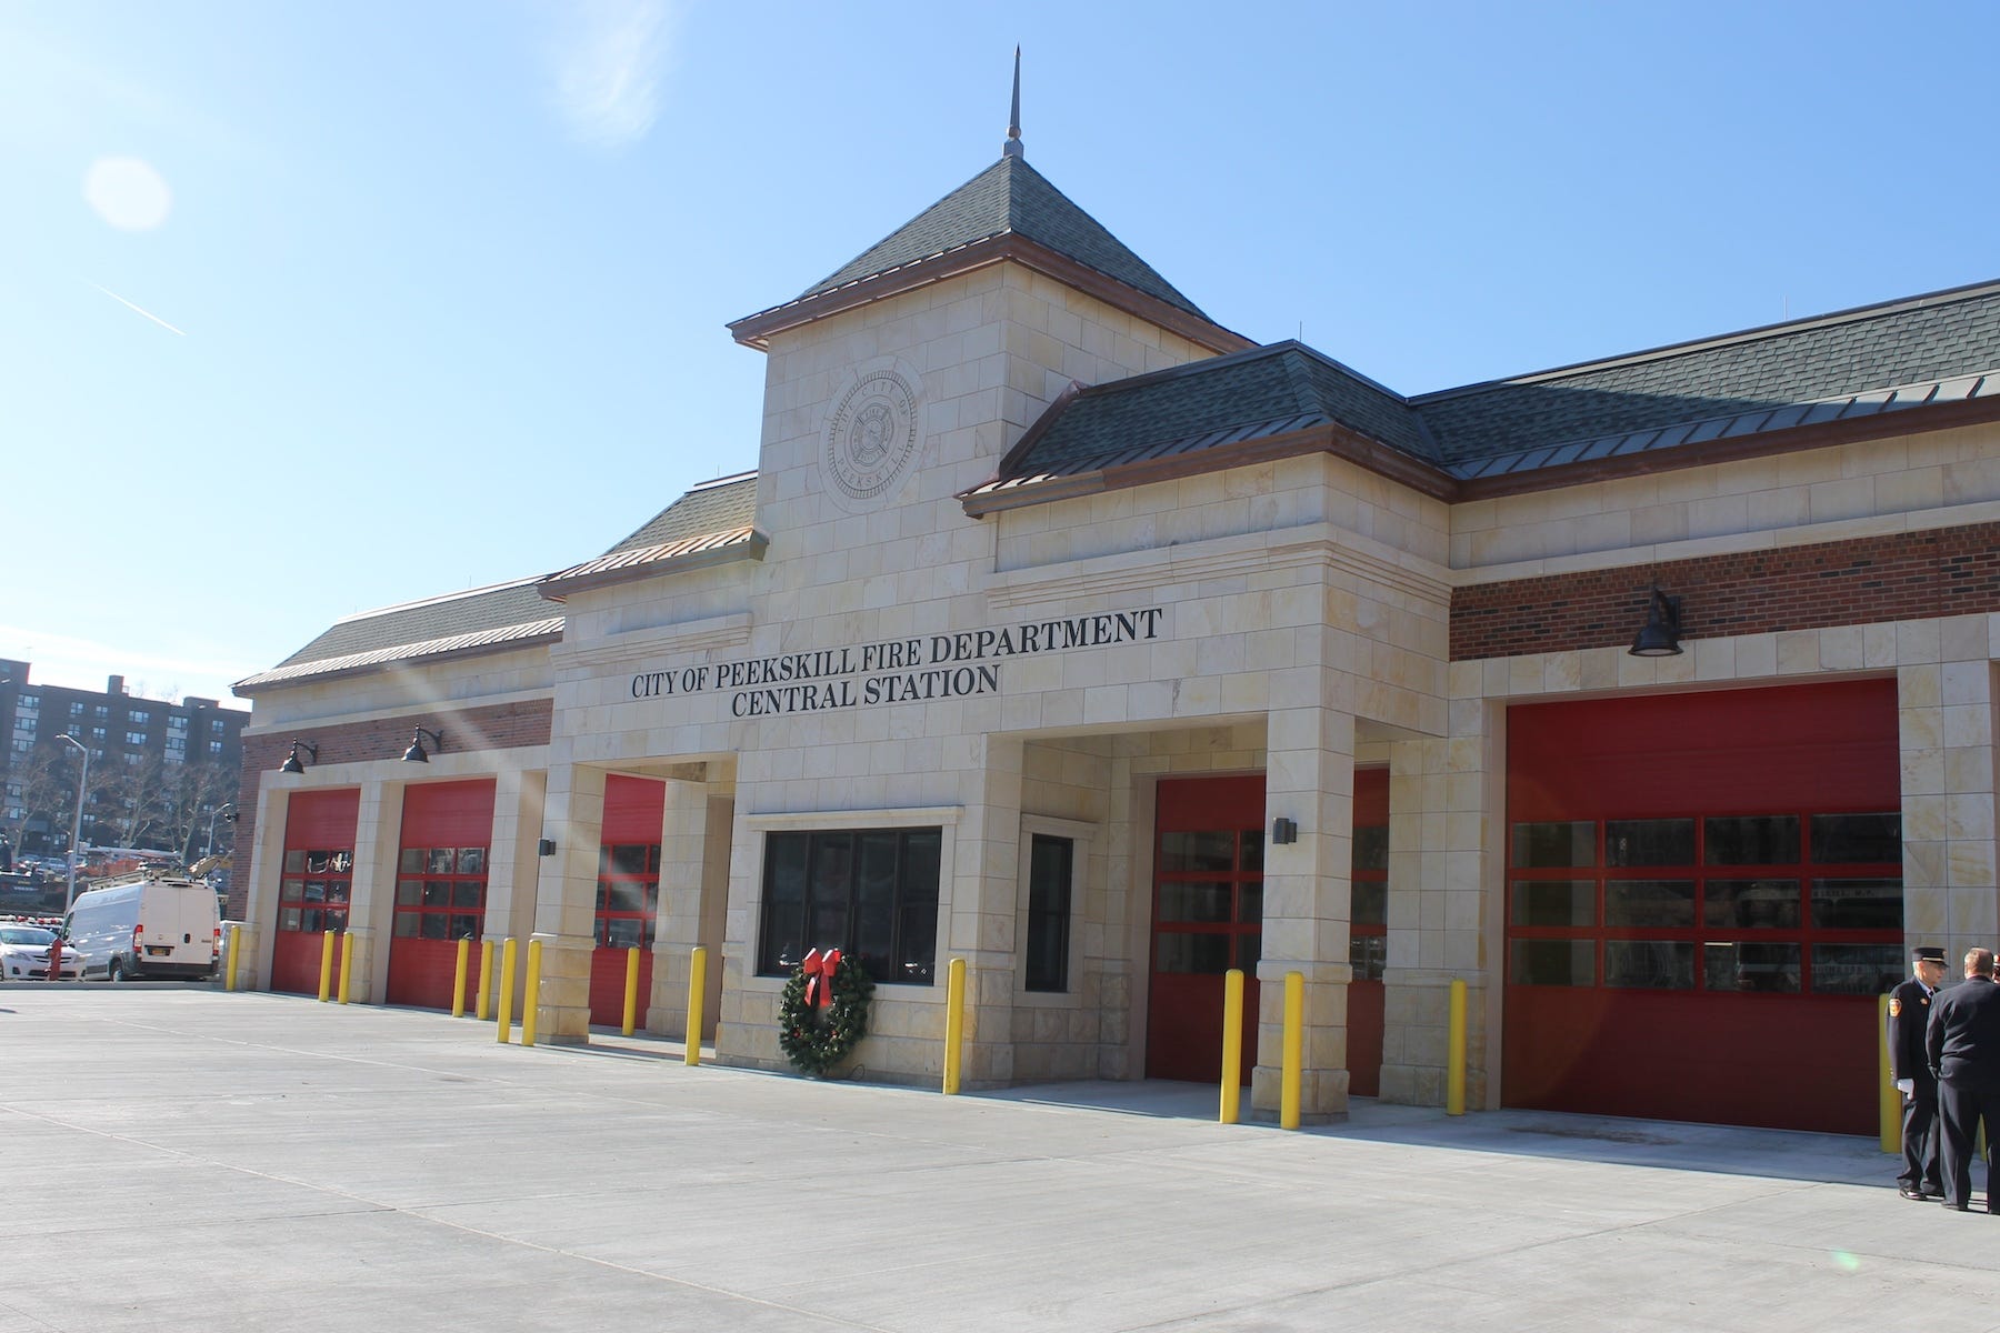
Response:
M1146 260L1126 250L1124 242L1072 204L1024 158L1000 158L892 236L842 264L824 282L800 292L798 300L1010 232L1208 320L1194 302L1176 292Z

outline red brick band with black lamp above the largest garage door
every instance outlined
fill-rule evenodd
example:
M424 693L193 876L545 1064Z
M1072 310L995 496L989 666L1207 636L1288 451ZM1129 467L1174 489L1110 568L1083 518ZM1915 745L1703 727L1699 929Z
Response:
M1452 662L1630 646L1654 580L1690 640L2000 612L2000 524L1458 588Z

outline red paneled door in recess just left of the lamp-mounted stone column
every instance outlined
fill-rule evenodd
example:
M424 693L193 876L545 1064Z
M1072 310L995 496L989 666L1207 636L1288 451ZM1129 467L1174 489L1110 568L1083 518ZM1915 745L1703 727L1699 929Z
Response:
M1244 973L1238 1077L1256 1069L1264 953L1264 775L1170 777L1158 787L1146 1077L1218 1083L1224 973Z

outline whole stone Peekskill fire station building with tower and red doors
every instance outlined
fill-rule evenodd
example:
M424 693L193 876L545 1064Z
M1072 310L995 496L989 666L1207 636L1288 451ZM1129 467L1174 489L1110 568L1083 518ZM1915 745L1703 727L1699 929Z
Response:
M2000 937L2000 284L1410 398L1014 140L730 332L754 472L236 687L240 985L540 939L582 1043L640 947L648 1031L782 1069L838 947L928 1083L962 957L998 1087L1216 1079L1240 967L1268 1111L1300 971L1330 1117L1442 1103L1462 979L1474 1107L1860 1133L1908 947Z

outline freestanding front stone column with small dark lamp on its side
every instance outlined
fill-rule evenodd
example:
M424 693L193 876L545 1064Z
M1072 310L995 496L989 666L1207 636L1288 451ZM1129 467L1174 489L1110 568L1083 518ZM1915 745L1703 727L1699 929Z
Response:
M1264 809L1298 823L1298 841L1264 847L1264 959L1258 963L1258 1055L1250 1105L1280 1109L1284 973L1306 979L1300 1117L1348 1113L1348 875L1354 867L1354 713L1270 713Z

